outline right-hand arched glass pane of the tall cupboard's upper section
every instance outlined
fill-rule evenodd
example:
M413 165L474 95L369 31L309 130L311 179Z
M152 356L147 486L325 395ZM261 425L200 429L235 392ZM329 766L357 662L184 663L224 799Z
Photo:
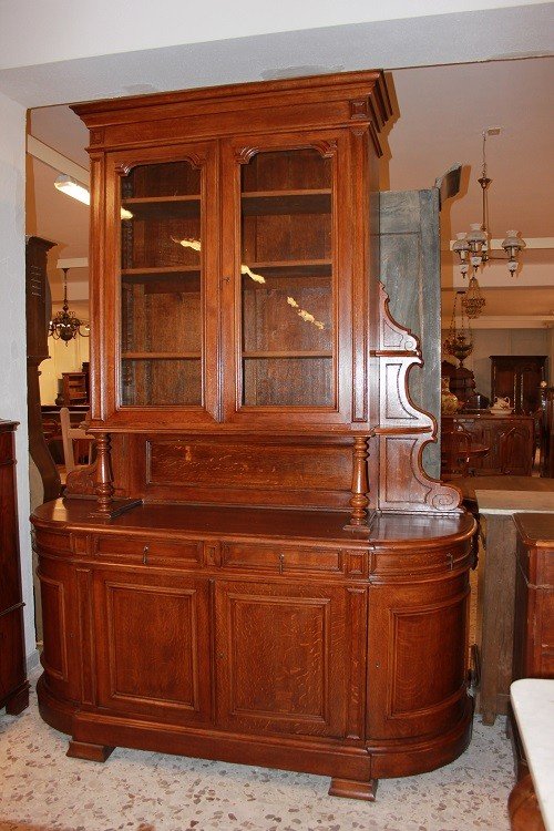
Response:
M334 403L331 181L316 150L242 168L244 406Z

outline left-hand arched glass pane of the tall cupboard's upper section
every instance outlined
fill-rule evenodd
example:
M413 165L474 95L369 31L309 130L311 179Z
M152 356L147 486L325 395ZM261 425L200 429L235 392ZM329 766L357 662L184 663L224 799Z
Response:
M121 402L201 406L201 171L135 167L121 204Z

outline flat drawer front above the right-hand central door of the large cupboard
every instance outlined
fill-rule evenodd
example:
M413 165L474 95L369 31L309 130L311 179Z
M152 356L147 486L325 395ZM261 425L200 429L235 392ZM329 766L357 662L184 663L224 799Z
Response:
M280 574L290 572L343 574L343 554L337 548L223 543L222 565L227 568L256 566Z

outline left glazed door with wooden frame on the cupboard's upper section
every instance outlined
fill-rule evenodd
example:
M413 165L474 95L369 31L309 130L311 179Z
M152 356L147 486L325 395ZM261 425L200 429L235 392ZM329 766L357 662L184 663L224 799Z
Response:
M119 152L105 165L105 237L93 237L100 291L91 318L98 325L100 307L105 321L93 331L103 379L93 372L93 418L111 428L213 423L216 145Z

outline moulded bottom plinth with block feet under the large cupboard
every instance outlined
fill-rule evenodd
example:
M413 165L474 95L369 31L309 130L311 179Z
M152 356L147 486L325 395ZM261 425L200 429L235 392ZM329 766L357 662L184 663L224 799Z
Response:
M447 765L471 739L473 707L468 698L462 719L447 733L424 739L394 739L350 745L249 733L227 733L209 726L183 727L140 721L60 701L38 684L40 714L47 724L72 738L68 756L105 761L114 747L176 753L201 759L253 765L331 777L329 794L373 801L378 778L414 776Z

